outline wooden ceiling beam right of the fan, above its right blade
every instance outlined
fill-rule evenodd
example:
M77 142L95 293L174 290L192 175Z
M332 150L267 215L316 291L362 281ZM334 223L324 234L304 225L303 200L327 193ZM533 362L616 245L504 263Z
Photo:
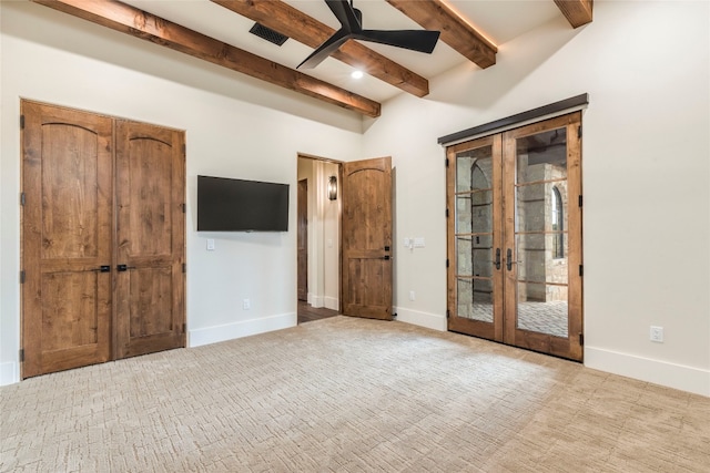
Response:
M387 0L387 2L425 29L440 31L440 41L481 69L496 63L498 48L442 0Z

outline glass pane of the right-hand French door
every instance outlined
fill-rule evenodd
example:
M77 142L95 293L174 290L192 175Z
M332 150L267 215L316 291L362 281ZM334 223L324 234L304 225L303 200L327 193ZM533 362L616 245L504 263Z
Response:
M567 338L565 128L518 138L516 151L517 328Z

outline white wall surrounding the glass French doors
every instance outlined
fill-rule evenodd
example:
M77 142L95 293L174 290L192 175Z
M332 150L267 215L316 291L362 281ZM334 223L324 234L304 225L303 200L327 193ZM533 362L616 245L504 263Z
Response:
M445 327L437 137L587 92L585 363L710 395L709 21L707 2L597 1L587 27L560 17L500 45L493 68L388 102L364 152L392 154L397 171L398 319ZM426 248L405 250L409 235Z

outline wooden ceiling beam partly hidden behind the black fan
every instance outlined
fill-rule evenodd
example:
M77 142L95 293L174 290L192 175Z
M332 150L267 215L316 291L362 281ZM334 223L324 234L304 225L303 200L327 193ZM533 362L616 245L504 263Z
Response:
M335 32L281 0L211 1L314 49ZM356 41L347 41L332 56L413 95L429 93L426 79Z

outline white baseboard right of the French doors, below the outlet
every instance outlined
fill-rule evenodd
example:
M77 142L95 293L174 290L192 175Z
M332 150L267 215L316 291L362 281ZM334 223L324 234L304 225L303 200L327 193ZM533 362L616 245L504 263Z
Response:
M585 366L641 381L710 397L710 370L585 347Z

